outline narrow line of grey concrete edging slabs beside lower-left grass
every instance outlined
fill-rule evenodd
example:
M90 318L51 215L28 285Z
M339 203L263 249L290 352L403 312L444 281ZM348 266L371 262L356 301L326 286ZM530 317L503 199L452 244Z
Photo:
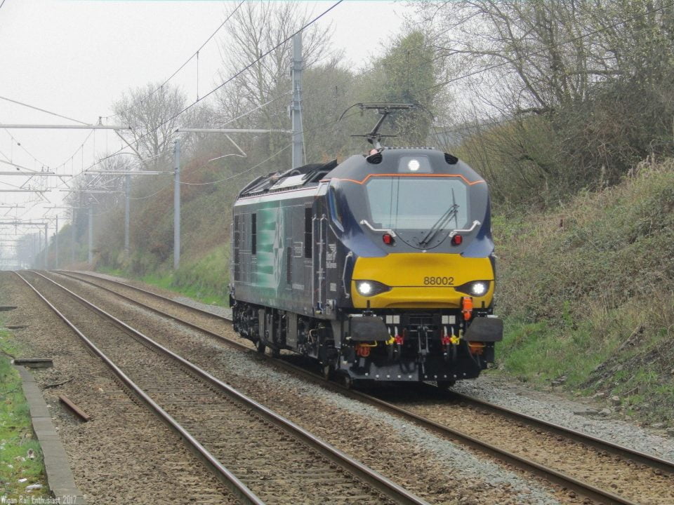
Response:
M35 436L42 447L44 471L47 483L59 503L68 505L86 505L84 496L77 489L70 469L65 449L51 422L51 414L32 373L26 368L14 365L21 376L23 394L30 409L30 420Z

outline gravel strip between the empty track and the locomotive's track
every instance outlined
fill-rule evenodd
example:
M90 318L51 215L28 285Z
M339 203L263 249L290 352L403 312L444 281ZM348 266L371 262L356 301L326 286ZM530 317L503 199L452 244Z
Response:
M428 501L555 504L561 498L579 503L395 416L274 370L254 353L234 351L91 286L60 282L120 318L133 318L133 325L146 335Z

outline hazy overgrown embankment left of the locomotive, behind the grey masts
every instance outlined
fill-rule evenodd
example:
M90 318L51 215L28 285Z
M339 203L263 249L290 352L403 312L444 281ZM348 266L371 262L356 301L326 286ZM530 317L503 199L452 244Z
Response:
M196 161L184 170L185 180L207 183L220 180L225 168L199 166ZM182 197L182 240L180 268L173 272L173 195L164 191L157 198L132 206L131 257L121 250L124 243L124 210L103 215L98 224L94 254L95 269L107 274L136 278L148 284L180 292L208 304L227 306L230 271L230 221L232 203L239 187L254 173L223 184L187 186ZM137 182L138 195L153 194L156 188ZM107 220L104 220L103 218ZM81 258L80 258L81 259ZM81 264L82 268L86 265Z

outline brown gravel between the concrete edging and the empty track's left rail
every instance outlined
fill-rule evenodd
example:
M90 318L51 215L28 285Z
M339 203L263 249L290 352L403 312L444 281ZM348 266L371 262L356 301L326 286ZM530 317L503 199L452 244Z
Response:
M25 283L0 272L0 292L18 306L8 313L9 323L28 325L15 330L15 338L30 355L53 358L53 368L34 374L88 503L238 502ZM92 415L91 421L74 417L59 394Z

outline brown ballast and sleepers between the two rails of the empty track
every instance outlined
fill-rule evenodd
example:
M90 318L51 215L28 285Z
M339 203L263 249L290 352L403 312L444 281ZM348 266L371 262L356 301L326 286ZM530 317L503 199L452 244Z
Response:
M336 468L278 426L270 426L245 403L62 296L55 285L36 281L77 328L265 503L322 505L330 497L334 504L348 505L351 499L391 504L369 484Z

